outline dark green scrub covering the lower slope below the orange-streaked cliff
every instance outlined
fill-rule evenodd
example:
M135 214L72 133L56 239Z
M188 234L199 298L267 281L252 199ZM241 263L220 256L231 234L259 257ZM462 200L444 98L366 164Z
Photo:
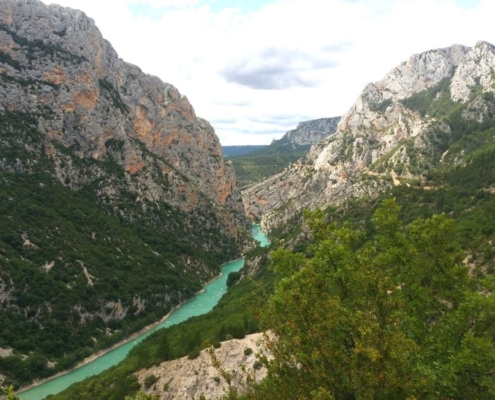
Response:
M144 209L125 190L117 202L101 201L98 181L79 191L62 185L36 125L36 115L0 115L0 347L14 349L0 358L0 373L16 387L160 319L237 255L231 239L204 224L209 214ZM82 171L123 175L111 161L63 151ZM188 259L199 275L184 271Z

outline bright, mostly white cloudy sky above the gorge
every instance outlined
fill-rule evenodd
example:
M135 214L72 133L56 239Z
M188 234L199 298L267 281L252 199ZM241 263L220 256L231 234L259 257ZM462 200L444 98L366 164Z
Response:
M52 1L43 0L50 4ZM343 115L415 53L495 44L494 0L57 0L187 96L222 145Z

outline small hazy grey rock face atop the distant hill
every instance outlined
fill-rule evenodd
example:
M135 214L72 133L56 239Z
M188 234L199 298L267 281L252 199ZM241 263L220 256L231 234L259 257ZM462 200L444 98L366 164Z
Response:
M339 121L340 117L333 117L300 122L296 129L288 131L275 142L293 147L311 146L335 133Z

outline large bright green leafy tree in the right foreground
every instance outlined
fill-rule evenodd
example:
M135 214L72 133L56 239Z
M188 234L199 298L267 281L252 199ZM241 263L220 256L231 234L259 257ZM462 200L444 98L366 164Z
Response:
M249 398L493 398L494 279L469 276L444 215L398 214L384 201L368 238L308 213L308 254L274 253L274 359Z

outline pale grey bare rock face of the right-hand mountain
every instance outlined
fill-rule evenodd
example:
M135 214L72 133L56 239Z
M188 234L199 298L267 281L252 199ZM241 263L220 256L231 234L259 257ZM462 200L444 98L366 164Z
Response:
M441 160L438 143L452 129L441 118L418 112L418 99L412 105L407 100L441 88L437 103L470 102L465 118L483 118L491 106L482 97L473 100L473 93L495 91L494 56L494 47L485 42L412 56L366 86L337 132L315 144L308 156L244 190L248 215L269 230L303 208L373 196L400 184L400 178L421 179L424 169Z

